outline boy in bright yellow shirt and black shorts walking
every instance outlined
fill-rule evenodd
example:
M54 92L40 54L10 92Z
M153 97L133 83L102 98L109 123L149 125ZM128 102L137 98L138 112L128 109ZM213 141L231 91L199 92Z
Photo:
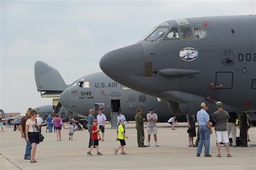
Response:
M120 141L120 145L117 146L117 148L114 149L114 154L117 155L117 151L121 148L121 154L125 155L127 153L124 152L124 146L125 144L125 140L124 138L128 139L128 137L126 136L126 134L124 133L124 121L120 120L119 122L119 126L118 126L118 140Z

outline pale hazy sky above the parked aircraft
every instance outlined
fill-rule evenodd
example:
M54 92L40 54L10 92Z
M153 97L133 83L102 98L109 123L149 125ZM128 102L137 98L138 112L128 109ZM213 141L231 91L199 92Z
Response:
M0 109L21 112L52 104L37 91L38 60L66 84L100 72L99 60L135 44L170 19L250 15L255 1L0 1Z

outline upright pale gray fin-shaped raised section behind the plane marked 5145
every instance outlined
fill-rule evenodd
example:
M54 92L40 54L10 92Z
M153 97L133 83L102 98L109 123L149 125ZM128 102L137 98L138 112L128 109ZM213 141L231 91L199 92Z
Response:
M37 91L46 91L46 94L50 94L42 97L54 97L52 95L59 95L68 87L58 70L43 61L35 63L34 71Z

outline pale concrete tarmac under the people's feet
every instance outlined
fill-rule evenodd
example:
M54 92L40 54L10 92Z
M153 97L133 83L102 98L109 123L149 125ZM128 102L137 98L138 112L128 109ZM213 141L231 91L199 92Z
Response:
M179 123L186 126L186 123ZM56 133L46 133L45 140L37 146L35 164L24 160L25 140L20 132L4 128L0 133L0 169L256 169L256 128L249 130L250 147L230 147L231 158L226 157L225 147L221 147L221 158L217 158L215 133L211 135L211 158L204 158L204 148L201 157L196 157L197 147L188 147L186 127L171 130L167 123L158 123L158 144L154 146L153 135L151 147L137 147L137 132L134 123L126 124L125 151L127 155L113 154L113 149L119 145L116 141L116 129L106 125L105 139L99 142L102 156L87 155L89 132L87 130L74 133L73 140L69 140L69 130L62 130L62 141L56 141ZM66 125L68 126L68 125ZM147 130L145 129L145 145L147 144ZM239 130L237 130L239 136ZM196 138L194 138L196 141Z

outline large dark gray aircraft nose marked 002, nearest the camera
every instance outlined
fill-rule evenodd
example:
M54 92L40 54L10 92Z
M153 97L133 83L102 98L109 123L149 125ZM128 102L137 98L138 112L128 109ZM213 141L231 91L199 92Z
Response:
M256 16L166 21L134 45L103 56L114 81L168 103L173 114L256 111ZM118 70L118 71L117 71Z

